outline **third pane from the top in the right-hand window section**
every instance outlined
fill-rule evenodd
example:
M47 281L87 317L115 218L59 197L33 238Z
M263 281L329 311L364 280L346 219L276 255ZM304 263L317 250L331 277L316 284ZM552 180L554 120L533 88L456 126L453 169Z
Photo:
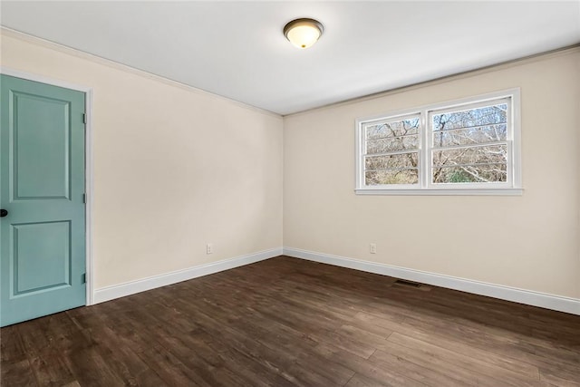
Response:
M458 148L454 150L434 150L433 167L458 164L498 164L507 162L507 145Z

